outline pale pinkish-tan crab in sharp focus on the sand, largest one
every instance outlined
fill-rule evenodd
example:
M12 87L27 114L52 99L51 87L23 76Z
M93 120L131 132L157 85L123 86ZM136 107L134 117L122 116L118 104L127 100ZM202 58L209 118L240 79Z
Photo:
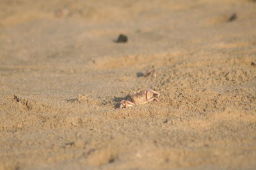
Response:
M131 97L131 101L130 100L122 100L120 103L120 108L127 108L130 106L134 106L137 104L145 104L148 103L150 101L159 101L159 99L157 97L160 96L159 92L157 92L156 90L143 90L141 91L140 89L138 89L138 92L135 92L135 90L133 90L134 94L130 95Z

